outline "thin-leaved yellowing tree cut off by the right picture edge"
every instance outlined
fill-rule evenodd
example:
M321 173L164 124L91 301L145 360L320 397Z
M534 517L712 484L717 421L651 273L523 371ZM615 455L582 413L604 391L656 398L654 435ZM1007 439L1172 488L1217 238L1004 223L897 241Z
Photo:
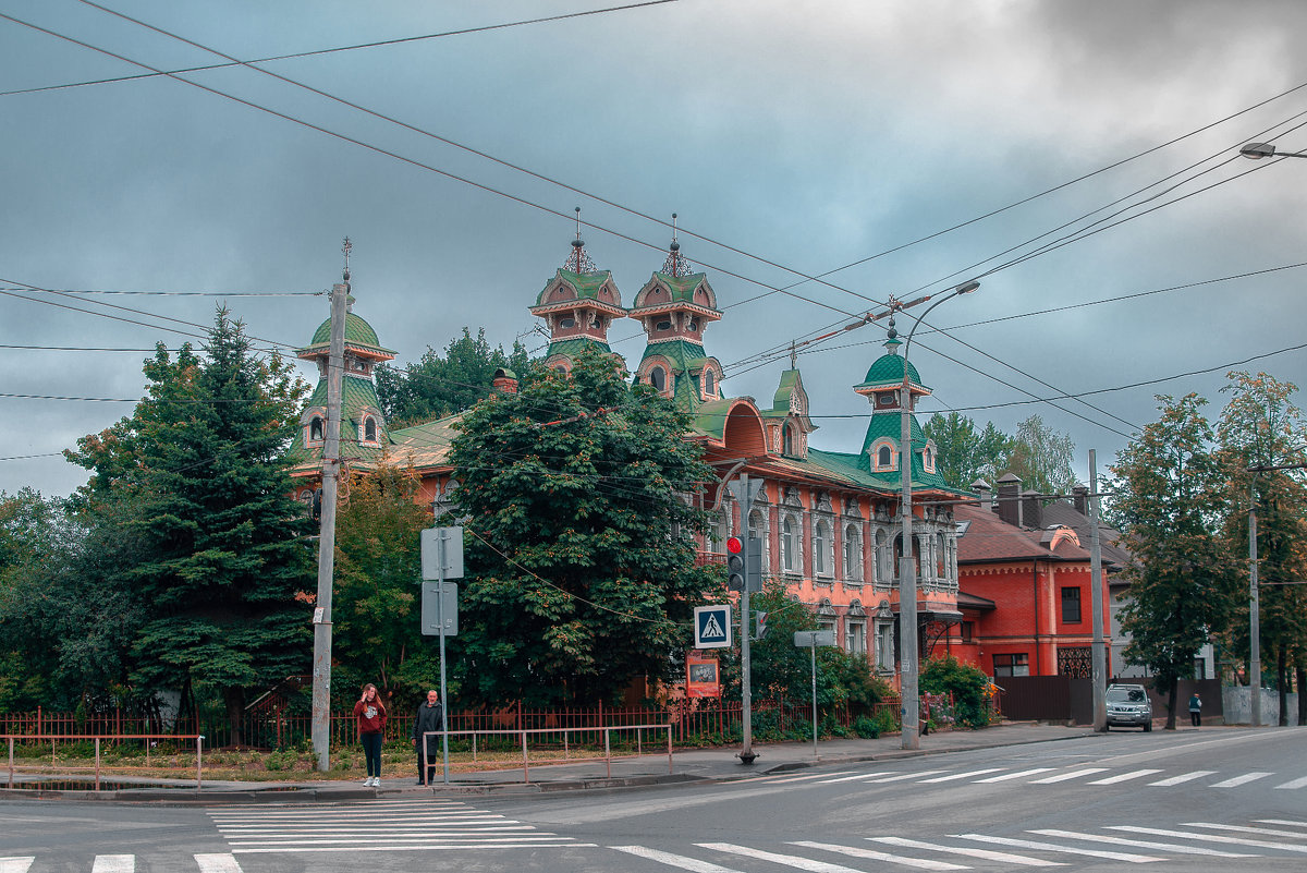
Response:
M1231 554L1248 553L1248 501L1257 514L1259 657L1276 669L1280 724L1287 724L1290 672L1307 680L1307 420L1294 405L1298 388L1265 372L1229 374L1230 400L1217 422L1219 455L1234 491L1226 536ZM1248 468L1280 468L1249 470ZM1244 562L1247 567L1247 562ZM1249 651L1249 599L1231 629L1234 651ZM1256 677L1253 677L1256 678ZM1307 694L1299 695L1299 710Z

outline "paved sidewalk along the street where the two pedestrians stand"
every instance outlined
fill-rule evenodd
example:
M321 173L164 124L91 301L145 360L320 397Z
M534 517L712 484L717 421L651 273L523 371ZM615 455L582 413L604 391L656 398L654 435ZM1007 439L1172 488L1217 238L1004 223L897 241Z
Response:
M921 737L920 749L904 750L899 734L877 740L825 740L817 744L817 757L810 742L754 744L758 755L752 765L736 757L738 746L716 749L686 749L672 754L670 772L667 754L647 754L639 758L621 758L612 762L612 775L604 761L566 765L532 765L529 783L523 768L488 770L450 774L444 784L443 771L437 768L434 785L418 785L416 766L403 772L382 778L380 789L365 788L358 782L210 782L195 788L195 780L133 779L106 776L112 788L95 791L38 791L31 788L7 789L0 783L3 800L101 800L119 802L174 802L174 804L244 804L244 802L332 802L369 800L375 797L430 797L488 793L538 793L549 791L597 791L635 785L659 785L686 782L729 782L776 772L802 770L813 765L890 761L919 755L948 754L974 749L997 749L1030 742L1051 742L1094 736L1087 727L1055 727L1042 724L1004 724L984 731L946 731ZM35 782L35 780L25 780ZM133 782L146 783L140 788ZM169 787L162 787L169 785Z

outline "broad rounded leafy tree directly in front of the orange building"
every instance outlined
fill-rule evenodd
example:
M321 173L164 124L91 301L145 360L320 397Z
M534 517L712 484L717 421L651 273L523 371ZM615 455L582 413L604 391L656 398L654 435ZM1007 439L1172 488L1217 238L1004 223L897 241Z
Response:
M596 353L463 418L464 703L595 703L680 676L691 610L720 583L695 566L712 472L687 426Z

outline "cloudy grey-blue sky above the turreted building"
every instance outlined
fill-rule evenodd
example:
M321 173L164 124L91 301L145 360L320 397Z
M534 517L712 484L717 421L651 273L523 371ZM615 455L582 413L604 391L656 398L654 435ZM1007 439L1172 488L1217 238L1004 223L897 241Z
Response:
M464 327L541 350L575 206L627 305L677 213L723 389L766 406L792 342L978 278L916 331L923 421L1038 414L1087 481L1158 393L1214 418L1229 370L1303 382L1307 161L1238 150L1307 149L1304 27L1295 0L0 0L0 490L84 484L60 452L217 306L307 345L346 235L396 365ZM884 324L797 348L812 446L860 448ZM638 363L637 321L609 336Z

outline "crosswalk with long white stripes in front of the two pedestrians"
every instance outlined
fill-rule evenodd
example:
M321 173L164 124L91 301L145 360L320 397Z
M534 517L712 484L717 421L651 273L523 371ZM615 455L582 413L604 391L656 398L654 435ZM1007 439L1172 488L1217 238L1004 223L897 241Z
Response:
M233 855L592 846L454 800L315 809L238 806L209 810L209 818Z

